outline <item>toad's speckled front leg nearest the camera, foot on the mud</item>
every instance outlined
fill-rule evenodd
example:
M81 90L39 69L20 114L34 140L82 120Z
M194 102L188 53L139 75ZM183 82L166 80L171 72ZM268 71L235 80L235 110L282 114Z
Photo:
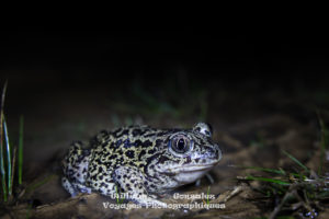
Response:
M114 171L114 181L121 186L129 199L143 206L157 205L167 207L166 203L150 197L144 186L143 173L135 166L120 166Z

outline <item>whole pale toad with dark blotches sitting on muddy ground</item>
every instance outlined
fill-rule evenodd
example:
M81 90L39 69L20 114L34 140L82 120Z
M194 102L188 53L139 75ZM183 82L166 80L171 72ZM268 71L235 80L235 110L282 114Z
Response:
M63 160L61 184L72 197L122 193L141 206L166 208L159 195L200 181L220 160L209 124L184 129L126 126L102 130L88 143L73 141Z

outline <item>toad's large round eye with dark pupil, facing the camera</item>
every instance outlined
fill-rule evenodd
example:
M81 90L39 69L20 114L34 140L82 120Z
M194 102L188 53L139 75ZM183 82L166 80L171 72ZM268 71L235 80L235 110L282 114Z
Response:
M191 151L192 146L193 146L192 140L190 140L184 135L173 136L169 141L170 150L173 151L177 155L182 155Z

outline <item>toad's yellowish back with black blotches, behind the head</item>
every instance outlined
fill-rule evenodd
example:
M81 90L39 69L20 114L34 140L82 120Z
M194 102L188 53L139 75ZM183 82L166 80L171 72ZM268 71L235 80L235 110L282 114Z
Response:
M131 165L144 170L147 158L160 143L162 132L149 126L128 126L113 131L102 130L90 142L92 155L88 182L102 182L104 174L113 174L117 166ZM95 185L97 187L98 185Z

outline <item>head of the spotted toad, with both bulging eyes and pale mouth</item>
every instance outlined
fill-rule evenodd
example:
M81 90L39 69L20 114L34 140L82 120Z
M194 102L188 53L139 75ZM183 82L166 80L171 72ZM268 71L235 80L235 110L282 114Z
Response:
M211 126L198 123L192 129L175 129L166 136L155 168L181 185L198 180L220 159L222 150L212 140Z

